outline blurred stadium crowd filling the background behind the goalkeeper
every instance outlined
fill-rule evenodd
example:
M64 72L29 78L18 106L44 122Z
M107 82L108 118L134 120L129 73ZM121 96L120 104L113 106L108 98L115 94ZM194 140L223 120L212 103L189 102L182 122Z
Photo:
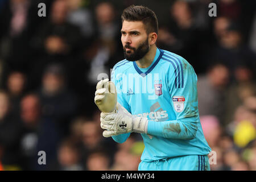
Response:
M93 99L98 74L123 59L120 15L132 4L155 11L157 46L197 73L201 125L217 154L211 169L256 170L253 0L0 1L0 169L137 170L141 136L102 137Z

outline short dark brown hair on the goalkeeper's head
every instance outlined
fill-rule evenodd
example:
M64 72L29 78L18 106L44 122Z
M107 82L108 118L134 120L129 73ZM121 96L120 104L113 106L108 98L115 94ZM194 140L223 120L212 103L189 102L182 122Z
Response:
M124 20L142 21L147 34L151 32L156 32L156 34L158 34L158 18L156 18L154 11L145 6L131 5L123 10L121 18L122 23Z

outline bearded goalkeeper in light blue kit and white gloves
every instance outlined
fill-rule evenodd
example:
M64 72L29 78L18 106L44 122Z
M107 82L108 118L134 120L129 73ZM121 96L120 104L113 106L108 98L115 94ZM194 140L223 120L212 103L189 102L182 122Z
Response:
M156 47L158 20L152 10L133 5L121 18L125 60L115 64L111 82L98 82L94 98L104 137L123 143L130 133L141 133L139 170L209 170L194 69Z

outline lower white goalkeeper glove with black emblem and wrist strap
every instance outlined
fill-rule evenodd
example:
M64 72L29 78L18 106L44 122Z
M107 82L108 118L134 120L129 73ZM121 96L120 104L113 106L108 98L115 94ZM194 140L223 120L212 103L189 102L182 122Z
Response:
M104 137L112 137L124 133L147 134L147 118L131 115L125 107L117 102L118 113L101 113L101 128Z

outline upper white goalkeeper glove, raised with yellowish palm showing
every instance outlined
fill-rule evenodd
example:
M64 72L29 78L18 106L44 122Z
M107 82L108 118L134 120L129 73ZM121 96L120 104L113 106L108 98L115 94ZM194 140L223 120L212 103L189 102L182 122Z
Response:
M103 113L116 113L117 91L108 78L98 82L94 102Z

